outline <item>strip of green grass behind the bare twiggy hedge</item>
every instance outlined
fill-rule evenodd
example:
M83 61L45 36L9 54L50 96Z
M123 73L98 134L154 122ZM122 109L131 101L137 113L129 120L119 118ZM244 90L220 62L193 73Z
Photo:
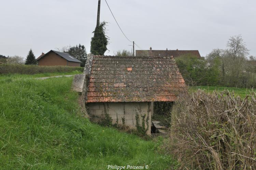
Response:
M216 91L224 91L229 90L230 92L234 92L235 96L240 96L241 98L245 98L246 95L249 95L252 92L250 88L236 88L236 87L222 87L222 86L190 86L189 92L196 92L198 89L201 89L207 93L212 93L214 90ZM254 90L256 92L256 90Z

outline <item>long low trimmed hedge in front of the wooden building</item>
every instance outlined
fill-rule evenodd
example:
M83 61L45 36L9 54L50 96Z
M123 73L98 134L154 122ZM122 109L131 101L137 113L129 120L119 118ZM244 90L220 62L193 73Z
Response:
M1 64L0 74L19 73L19 74L36 74L36 73L53 73L53 72L70 72L74 70L83 71L83 67L70 66L36 66L21 64Z

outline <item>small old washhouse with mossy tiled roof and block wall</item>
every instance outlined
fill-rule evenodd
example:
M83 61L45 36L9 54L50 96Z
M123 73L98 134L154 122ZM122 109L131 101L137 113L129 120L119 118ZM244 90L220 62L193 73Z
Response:
M151 134L153 102L172 102L184 92L185 82L172 56L120 57L88 55L84 74L74 78L92 121L108 113L113 124L136 128L136 114L148 117ZM146 119L144 119L146 121Z

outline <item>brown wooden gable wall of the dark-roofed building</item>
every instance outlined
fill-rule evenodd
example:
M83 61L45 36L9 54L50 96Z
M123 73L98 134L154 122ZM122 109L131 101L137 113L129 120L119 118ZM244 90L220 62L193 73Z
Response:
M50 52L38 61L39 66L67 66L67 60L54 52ZM79 65L80 66L80 65Z

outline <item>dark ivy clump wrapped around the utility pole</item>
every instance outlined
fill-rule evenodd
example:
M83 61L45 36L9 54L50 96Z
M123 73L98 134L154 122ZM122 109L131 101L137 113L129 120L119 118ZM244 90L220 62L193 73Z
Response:
M91 53L95 55L104 55L107 49L107 45L109 44L109 38L105 35L106 30L106 22L103 21L96 26L94 36L91 38Z

